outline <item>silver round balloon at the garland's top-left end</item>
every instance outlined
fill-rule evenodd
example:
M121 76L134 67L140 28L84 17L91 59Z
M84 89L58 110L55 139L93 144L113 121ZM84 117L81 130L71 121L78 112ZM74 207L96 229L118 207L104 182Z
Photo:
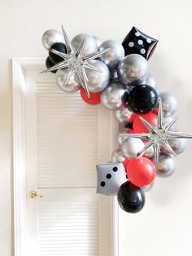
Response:
M55 29L49 29L46 30L45 33L43 33L42 38L41 38L42 45L46 48L46 50L49 50L50 47L55 43L55 42L63 42L64 43L64 38L59 31Z

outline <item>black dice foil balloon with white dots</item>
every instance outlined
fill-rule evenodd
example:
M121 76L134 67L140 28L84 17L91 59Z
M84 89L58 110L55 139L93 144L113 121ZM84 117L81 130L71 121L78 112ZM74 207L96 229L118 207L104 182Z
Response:
M146 60L149 60L155 51L157 43L158 40L151 38L145 33L142 33L142 31L133 27L127 34L126 38L124 38L122 46L124 47L125 56L137 53L146 58Z

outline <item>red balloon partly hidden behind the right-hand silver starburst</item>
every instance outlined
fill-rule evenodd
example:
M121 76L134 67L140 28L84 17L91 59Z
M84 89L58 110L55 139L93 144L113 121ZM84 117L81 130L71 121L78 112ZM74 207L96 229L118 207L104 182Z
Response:
M137 117L133 121L133 131L135 134L141 133L149 133L149 130L146 126L142 123L139 117L146 119L152 126L157 125L157 115L155 113L147 113L145 115L137 115Z

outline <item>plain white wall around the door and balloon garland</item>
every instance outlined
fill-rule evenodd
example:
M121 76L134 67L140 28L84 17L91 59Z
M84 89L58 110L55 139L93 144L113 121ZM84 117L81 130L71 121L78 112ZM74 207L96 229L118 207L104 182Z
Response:
M11 63L14 57L46 56L41 34L64 24L70 38L92 33L121 42L133 25L159 39L151 71L160 90L180 101L181 129L192 134L192 2L190 0L7 0L0 5L0 254L13 255ZM120 256L180 256L192 250L190 153L177 173L156 183L145 210L120 211Z

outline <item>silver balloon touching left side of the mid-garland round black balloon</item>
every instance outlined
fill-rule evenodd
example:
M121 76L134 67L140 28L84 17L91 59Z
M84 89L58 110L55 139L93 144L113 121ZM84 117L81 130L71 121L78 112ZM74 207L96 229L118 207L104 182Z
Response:
M115 80L111 80L101 95L101 103L110 110L116 110L123 105L123 95L126 92L126 86Z

